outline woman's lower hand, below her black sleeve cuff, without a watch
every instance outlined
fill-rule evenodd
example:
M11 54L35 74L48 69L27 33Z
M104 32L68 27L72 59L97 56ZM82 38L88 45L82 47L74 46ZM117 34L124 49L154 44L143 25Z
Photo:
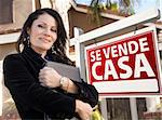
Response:
M90 104L76 99L76 112L78 112L81 120L90 120L92 111L93 108L90 106Z

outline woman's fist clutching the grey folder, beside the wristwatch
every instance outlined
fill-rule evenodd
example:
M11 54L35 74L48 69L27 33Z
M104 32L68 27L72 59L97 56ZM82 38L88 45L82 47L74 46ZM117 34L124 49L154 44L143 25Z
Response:
M39 72L39 81L41 85L48 88L57 88L60 85L62 76L51 67L44 67Z

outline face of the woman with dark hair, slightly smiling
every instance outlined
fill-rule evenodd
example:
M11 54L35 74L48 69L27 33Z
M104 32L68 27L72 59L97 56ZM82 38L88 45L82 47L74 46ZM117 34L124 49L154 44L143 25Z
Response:
M33 21L29 29L31 48L40 53L46 54L53 43L57 39L57 23L54 17L49 14L40 15Z

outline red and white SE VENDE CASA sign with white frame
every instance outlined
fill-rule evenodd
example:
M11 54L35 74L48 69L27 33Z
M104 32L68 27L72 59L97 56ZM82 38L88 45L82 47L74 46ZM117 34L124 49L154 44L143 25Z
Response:
M100 95L161 94L154 27L85 46L87 81Z

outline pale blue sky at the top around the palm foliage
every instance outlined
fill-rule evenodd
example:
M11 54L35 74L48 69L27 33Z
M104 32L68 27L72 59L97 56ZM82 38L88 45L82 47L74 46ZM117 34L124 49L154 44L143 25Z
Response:
M113 0L118 1L118 0ZM90 4L91 0L76 0L77 3ZM139 4L135 3L135 13L143 12L149 8L158 8L162 11L162 0L139 0Z

